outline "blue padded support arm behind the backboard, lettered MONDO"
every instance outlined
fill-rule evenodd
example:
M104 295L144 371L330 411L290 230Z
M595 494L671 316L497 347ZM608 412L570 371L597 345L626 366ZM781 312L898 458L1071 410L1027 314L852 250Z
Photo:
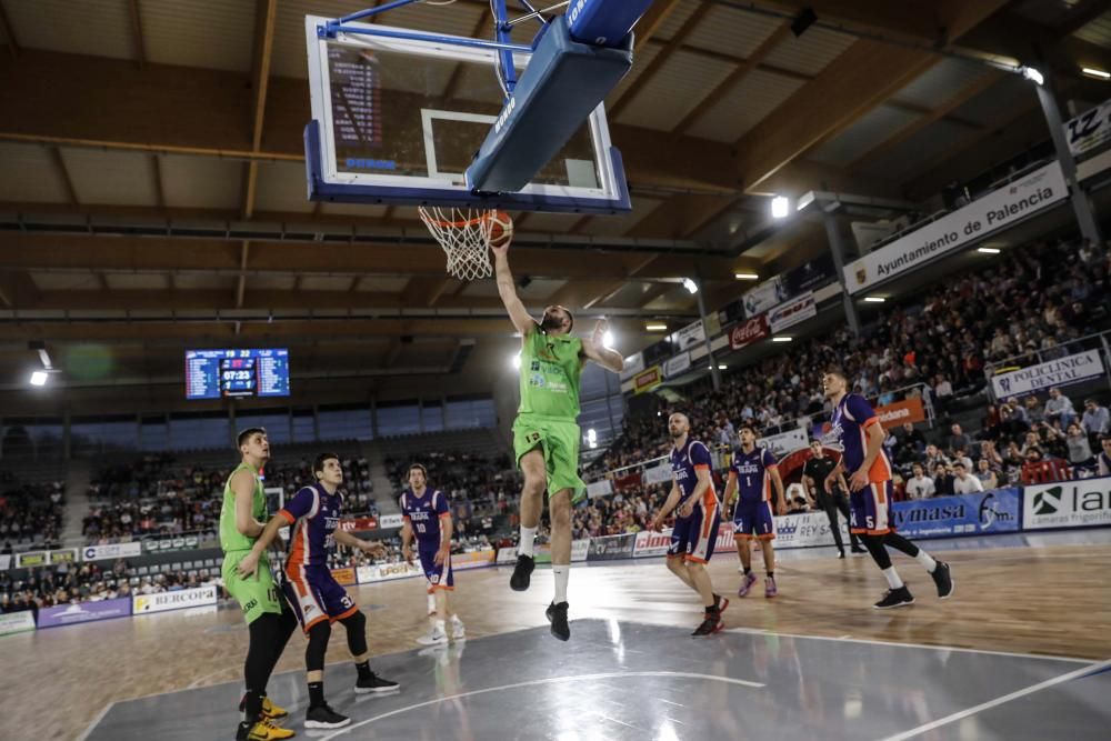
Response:
M632 37L620 49L574 41L557 17L487 136L467 184L482 192L524 188L632 67Z

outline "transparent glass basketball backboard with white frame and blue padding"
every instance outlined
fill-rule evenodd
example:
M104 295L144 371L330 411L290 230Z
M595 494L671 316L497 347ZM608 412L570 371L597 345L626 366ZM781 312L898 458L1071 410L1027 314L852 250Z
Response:
M503 112L498 51L382 24L306 18L311 200L615 213L630 209L621 156L598 106L519 192L479 194L463 173ZM414 38L423 37L423 38ZM523 73L528 47L513 52Z

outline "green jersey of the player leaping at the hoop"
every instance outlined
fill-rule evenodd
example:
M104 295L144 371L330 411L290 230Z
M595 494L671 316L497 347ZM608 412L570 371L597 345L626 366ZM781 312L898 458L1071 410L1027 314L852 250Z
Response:
M546 334L537 327L521 349L519 414L537 414L573 422L579 417L579 377L582 340L570 334Z

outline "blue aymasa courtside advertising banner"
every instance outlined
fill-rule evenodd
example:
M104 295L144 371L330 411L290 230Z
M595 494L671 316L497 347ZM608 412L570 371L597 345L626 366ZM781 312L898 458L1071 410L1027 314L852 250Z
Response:
M994 489L894 502L891 520L895 530L910 539L1018 532L1019 499L1019 489Z

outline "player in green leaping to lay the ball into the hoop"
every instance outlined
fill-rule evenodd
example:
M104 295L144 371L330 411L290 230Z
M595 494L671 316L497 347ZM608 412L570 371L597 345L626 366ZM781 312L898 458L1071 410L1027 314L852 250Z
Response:
M567 622L567 581L571 571L571 504L587 492L579 478L579 377L588 360L620 372L621 354L602 347L605 322L599 321L590 339L571 336L574 319L563 307L548 307L537 323L517 297L509 269L509 242L491 247L501 297L513 327L521 333L521 405L513 422L513 451L524 474L521 492L521 540L517 565L509 581L519 592L529 588L534 539L548 489L551 518L552 574L556 597L548 607L552 635L571 638Z

